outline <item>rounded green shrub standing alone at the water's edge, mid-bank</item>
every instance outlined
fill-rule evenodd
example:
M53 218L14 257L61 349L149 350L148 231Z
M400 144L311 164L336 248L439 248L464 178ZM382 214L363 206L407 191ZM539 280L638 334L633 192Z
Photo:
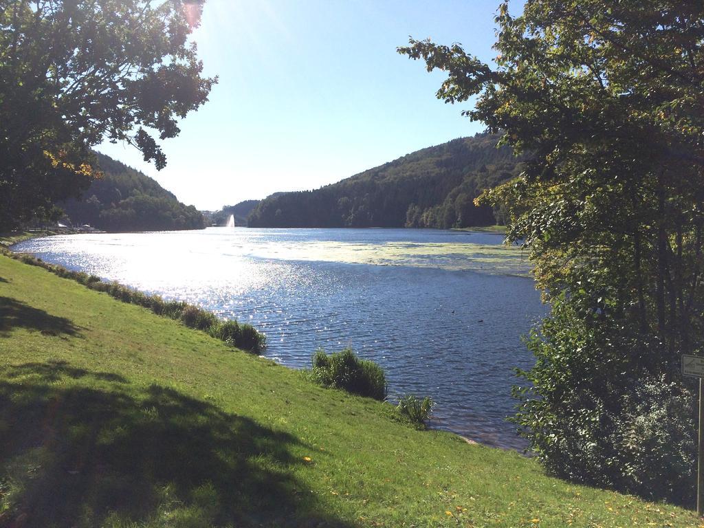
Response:
M344 389L377 400L386 398L384 370L370 360L360 359L351 348L332 354L320 349L313 354L313 381L322 386Z

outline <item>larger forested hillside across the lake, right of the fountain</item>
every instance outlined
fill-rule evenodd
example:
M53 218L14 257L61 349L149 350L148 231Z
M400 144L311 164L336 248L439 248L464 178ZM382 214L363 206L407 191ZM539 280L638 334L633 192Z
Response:
M501 222L474 206L484 189L509 180L520 158L477 134L410 153L315 191L279 193L252 211L249 227L469 227Z

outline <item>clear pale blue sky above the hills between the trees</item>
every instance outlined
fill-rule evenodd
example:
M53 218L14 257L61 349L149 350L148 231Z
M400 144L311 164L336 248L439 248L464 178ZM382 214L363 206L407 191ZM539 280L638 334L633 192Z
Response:
M443 80L396 53L417 39L495 52L499 0L208 0L194 32L210 101L163 142L157 171L130 146L99 150L184 203L219 209L315 189L483 125L435 99Z

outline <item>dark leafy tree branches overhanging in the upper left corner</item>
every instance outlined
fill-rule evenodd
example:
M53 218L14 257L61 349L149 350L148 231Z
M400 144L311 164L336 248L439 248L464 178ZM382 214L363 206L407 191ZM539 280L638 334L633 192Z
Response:
M99 175L92 147L157 139L207 100L189 42L203 0L0 0L0 230Z

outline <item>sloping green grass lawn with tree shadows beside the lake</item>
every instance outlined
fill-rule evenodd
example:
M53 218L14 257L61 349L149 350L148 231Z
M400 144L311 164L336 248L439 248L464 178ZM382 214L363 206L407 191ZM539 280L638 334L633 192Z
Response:
M0 256L0 526L698 525Z

